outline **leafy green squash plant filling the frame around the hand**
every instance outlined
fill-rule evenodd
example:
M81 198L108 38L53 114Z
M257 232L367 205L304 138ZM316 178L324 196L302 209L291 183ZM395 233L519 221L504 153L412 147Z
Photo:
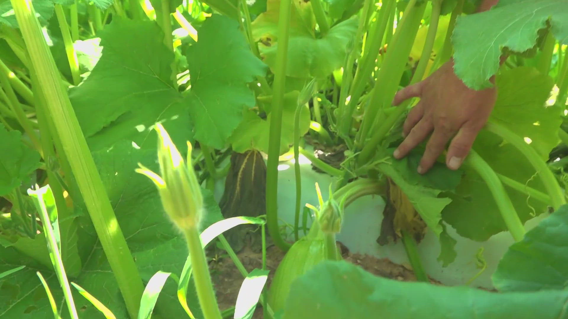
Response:
M251 213L265 215L272 241L283 250L315 237L325 243L310 245L318 246L316 253L337 259L335 233L348 218L340 203L367 194L381 194L387 202L378 242L402 238L421 280L427 274L420 272L415 246L426 228L440 240L441 266L456 257L449 226L475 241L508 230L517 241L509 255L524 249L523 242L541 238L542 228L525 234L523 223L551 208L556 215L544 226L565 215L565 192L558 182L563 173L555 175L546 162L560 141L568 142L561 129L568 88L566 8L560 0L501 0L494 9L475 13L478 5L475 0L0 1L0 295L7 300L0 304L0 316L72 314L73 308L64 309L60 302L70 302L68 290L52 291L59 304L53 307L56 311L44 298L42 283L59 287L61 267L76 287L84 288L78 291L86 290L119 318L152 312L176 318L219 316L211 291L197 289L199 300L196 290L188 291L192 267L185 239L161 213L160 192L135 171L138 163L158 171L156 124L168 132L178 157L188 155L188 141L195 145L187 163L194 163L191 169L206 188L214 189L225 174L229 177L222 201L225 224L247 215L241 211L243 203L265 187L265 198L258 193L250 206L258 211ZM507 59L500 65L502 54ZM450 58L456 74L473 89L486 87L495 75L498 99L461 170L449 170L440 161L420 175L416 168L422 145L402 160L392 157L402 141L404 115L416 101L392 106L392 99L397 90L421 81ZM551 91L557 92L556 103L545 106ZM303 147L314 139L324 150L345 150L340 165ZM279 159L292 154L298 167L300 153L336 180L330 191L333 200L319 203L314 211L321 218L300 238L300 209L306 203L296 169L294 244L278 223L277 167ZM236 160L222 166L229 156ZM48 214L41 205L37 209L37 200L27 192L36 184L52 192ZM232 251L234 243L219 233L204 240L208 226L221 219L206 188L202 244L219 236ZM265 205L264 212L259 205ZM264 224L263 219L238 220L236 224ZM46 231L48 224L53 232ZM53 254L55 246L61 252L58 263L52 259L59 255ZM290 251L294 255L289 259L306 255ZM513 257L503 259L503 269L515 263L508 258ZM270 304L278 304L285 318L301 316L296 311L311 309L305 308L311 291L322 303L357 313L347 301L318 292L343 287L344 275L350 279L352 286L345 289L350 293L380 281L393 292L419 287L412 298L424 296L419 292L470 293L385 282L343 262L318 266L319 259L313 265L302 263L299 270L282 264L277 272L286 287L279 291L277 280L270 289L283 293L259 296L268 317L278 316L269 311ZM43 282L36 271L44 274ZM196 275L204 274L200 271ZM503 271L495 282L506 289L511 283ZM144 285L165 280L164 272L181 272L177 289L162 282L156 309L153 304L144 309ZM254 275L241 272L247 279ZM196 282L203 283L203 276ZM522 273L517 276L523 278ZM558 278L563 277L550 280ZM81 317L101 316L97 304L73 293ZM365 297L353 293L347 300L356 296ZM471 296L489 300L485 292ZM565 300L558 291L499 298L499 303L514 299L512 308L527 309L533 304L525 301L533 298ZM203 313L199 301L207 308ZM327 317L341 313L331 306L323 309L328 313L311 310ZM358 311L385 311L366 306ZM557 304L550 309L556 314ZM390 316L410 316L404 307L387 310Z

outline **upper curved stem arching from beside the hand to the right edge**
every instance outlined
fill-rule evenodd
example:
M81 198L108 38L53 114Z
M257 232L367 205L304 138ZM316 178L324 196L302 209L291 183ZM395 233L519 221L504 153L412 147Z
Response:
M515 148L517 148L523 155L528 159L534 169L537 171L538 176L540 177L542 184L546 188L546 192L550 196L552 200L552 207L556 210L563 204L566 204L566 199L564 196L564 192L558 181L550 171L549 167L546 165L546 162L542 159L541 156L538 155L536 150L532 148L531 145L528 145L523 138L516 135L515 133L509 131L503 125L492 123L491 121L486 124L485 128L487 131L498 135L499 137L503 138L503 140L511 143Z

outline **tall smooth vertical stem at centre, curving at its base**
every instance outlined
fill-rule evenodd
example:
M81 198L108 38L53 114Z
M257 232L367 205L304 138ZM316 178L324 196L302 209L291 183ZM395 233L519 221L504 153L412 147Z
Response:
M285 242L278 226L278 157L282 133L282 104L286 82L286 61L288 40L290 35L291 1L280 2L278 16L278 49L274 68L273 104L270 112L270 132L268 160L266 164L266 222L274 244L282 250L288 250L290 244Z

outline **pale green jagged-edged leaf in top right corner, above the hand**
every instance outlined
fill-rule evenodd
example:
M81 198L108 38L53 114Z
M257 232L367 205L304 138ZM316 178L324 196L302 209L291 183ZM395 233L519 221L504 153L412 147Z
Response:
M455 72L472 89L491 87L501 49L525 52L538 31L552 25L554 37L568 44L568 9L563 0L500 1L491 10L460 16L452 36Z

